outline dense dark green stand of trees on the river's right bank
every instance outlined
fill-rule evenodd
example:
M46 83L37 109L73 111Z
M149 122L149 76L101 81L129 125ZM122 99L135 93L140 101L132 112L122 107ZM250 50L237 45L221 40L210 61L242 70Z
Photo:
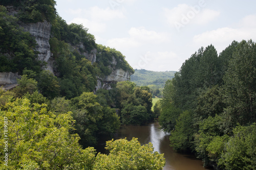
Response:
M162 129L170 145L216 169L256 169L256 44L233 41L219 55L199 48L165 83Z

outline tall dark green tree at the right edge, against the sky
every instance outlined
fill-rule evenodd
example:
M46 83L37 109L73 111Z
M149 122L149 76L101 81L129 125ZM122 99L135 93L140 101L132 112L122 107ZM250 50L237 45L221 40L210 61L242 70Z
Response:
M224 76L227 108L234 125L246 125L256 120L256 45L241 41L233 53Z

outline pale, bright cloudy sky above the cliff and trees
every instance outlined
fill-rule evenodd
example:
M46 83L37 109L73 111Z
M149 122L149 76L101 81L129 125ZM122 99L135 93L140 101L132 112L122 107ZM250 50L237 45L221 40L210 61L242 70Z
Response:
M179 71L200 47L221 53L233 40L256 41L254 0L55 0L68 24L120 51L134 69Z

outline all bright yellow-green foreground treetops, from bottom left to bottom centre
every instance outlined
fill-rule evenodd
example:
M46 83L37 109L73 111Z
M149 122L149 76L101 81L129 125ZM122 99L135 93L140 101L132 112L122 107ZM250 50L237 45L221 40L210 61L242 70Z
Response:
M162 169L165 164L151 143L141 146L136 138L108 141L110 154L96 156L94 148L83 150L79 136L69 133L75 123L71 112L56 116L46 104L31 104L28 99L6 105L0 110L0 128L5 128L0 132L0 156L8 153L8 169ZM4 159L0 168L6 169Z

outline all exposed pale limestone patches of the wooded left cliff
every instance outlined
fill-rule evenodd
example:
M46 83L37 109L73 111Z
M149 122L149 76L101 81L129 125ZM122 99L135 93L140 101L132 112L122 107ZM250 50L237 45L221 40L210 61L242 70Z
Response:
M49 43L49 40L51 37L51 27L52 27L51 23L45 20L44 22L37 22L37 23L19 22L18 24L20 27L24 29L24 31L29 32L32 36L35 37L35 40L37 43L35 50L39 52L38 60L45 61L47 63L46 69L50 70L51 72L53 72L53 74L57 75L56 68L54 65L55 64L54 58L53 58L53 54L51 53L50 43ZM88 60L92 62L92 64L96 62L97 50L95 48L92 51L88 52L85 50L86 48L82 43L76 46L72 46L72 48L73 50L76 50L80 55L85 56ZM96 87L96 90L99 88L110 89L111 83L130 80L130 76L132 75L131 72L124 71L121 68L117 69L115 67L116 64L117 62L113 57L113 61L109 66L110 69L112 70L111 74L108 76L103 76L98 78L99 80L98 80L98 85ZM1 79L2 78L0 77L0 81ZM16 79L10 80L9 83L15 84Z

